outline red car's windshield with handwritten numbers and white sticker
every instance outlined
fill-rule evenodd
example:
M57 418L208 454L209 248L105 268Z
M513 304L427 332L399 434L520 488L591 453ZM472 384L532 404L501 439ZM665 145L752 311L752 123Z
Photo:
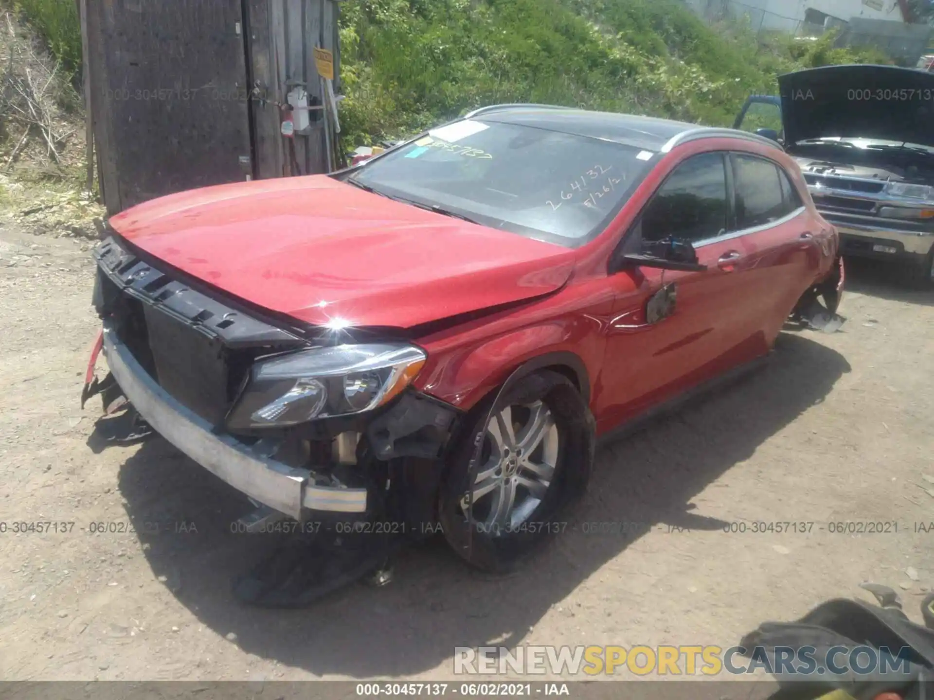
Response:
M502 231L574 246L605 228L653 155L586 136L465 119L366 164L348 181Z

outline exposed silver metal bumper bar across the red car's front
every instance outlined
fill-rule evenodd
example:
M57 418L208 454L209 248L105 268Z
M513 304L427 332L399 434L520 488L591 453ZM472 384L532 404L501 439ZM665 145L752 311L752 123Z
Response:
M167 441L233 488L295 520L303 512L366 511L366 489L319 486L305 469L294 469L256 454L230 435L217 434L152 380L120 342L104 327L104 354L123 393L135 409Z

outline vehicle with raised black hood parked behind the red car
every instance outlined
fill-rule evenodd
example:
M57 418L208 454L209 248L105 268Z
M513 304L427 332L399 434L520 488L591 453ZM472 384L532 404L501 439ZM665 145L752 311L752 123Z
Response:
M734 126L794 156L844 254L899 260L934 283L934 74L833 65L778 84L780 97L750 97Z

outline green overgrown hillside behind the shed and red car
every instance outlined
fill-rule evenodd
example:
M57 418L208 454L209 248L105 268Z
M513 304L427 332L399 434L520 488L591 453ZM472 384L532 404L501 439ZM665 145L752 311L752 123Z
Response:
M80 63L74 0L17 7L65 70ZM832 36L762 43L708 27L679 0L350 0L341 3L348 147L491 103L539 102L729 125L785 71L885 63Z

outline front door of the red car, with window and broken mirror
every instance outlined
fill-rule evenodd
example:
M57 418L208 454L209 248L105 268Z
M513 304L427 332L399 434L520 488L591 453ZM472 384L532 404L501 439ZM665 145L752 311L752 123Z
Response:
M674 237L695 245L707 269L630 267L611 276L616 303L595 412L601 432L737 363L729 343L737 329L731 326L750 317L742 307L752 308L754 301L741 242L726 233L732 216L727 158L701 153L678 165L620 247L623 254L634 253L644 242ZM672 291L674 303L664 317L647 313L653 297Z

